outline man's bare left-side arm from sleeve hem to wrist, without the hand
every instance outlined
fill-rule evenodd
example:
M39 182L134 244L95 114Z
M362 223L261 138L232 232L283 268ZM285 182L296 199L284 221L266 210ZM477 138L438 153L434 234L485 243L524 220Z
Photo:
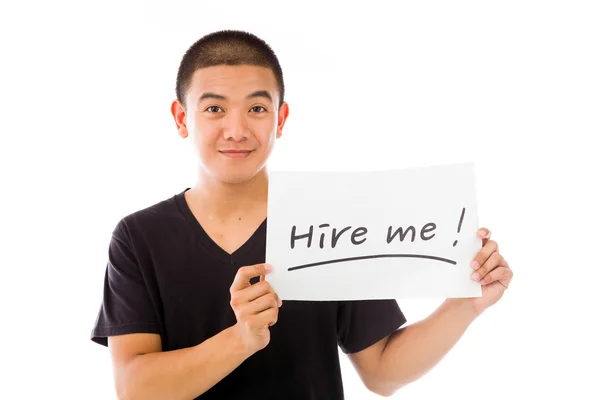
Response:
M119 400L193 399L251 355L233 327L199 345L166 352L156 334L112 336L108 343Z

